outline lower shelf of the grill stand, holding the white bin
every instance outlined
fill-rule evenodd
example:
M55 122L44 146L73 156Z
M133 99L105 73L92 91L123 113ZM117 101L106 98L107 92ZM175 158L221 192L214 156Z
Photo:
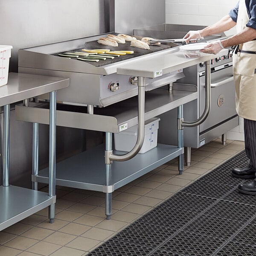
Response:
M56 164L56 185L103 192L105 185L105 145L99 145ZM124 154L114 151L116 154ZM137 154L125 162L113 161L113 189L152 171L183 153L183 148L158 144L144 154ZM34 176L33 180L48 183L48 168Z

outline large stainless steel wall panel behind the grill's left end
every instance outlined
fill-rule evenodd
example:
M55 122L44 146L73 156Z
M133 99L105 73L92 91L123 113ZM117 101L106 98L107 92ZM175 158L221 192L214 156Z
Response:
M106 0L0 0L0 44L12 45L10 72L20 48L109 32ZM108 20L109 17L106 17Z

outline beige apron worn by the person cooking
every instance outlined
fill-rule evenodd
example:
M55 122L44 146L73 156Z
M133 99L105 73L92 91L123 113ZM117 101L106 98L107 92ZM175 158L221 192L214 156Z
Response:
M246 28L249 21L245 0L240 0L237 32ZM256 51L256 40L239 45L239 49ZM239 116L256 120L256 54L233 54L233 73L236 86L236 111Z

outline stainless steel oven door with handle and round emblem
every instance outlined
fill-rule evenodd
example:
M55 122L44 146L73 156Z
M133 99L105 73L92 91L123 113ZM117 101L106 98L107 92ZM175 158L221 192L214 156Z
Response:
M199 78L199 99L201 116L205 106L205 76ZM199 130L206 131L236 115L236 91L230 66L211 73L211 109Z

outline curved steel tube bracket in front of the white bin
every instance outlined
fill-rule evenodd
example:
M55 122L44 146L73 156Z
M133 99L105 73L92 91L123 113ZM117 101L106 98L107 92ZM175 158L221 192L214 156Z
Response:
M138 78L138 137L134 148L127 154L117 155L111 154L109 160L114 161L127 161L135 157L136 154L140 151L145 134L145 77Z

